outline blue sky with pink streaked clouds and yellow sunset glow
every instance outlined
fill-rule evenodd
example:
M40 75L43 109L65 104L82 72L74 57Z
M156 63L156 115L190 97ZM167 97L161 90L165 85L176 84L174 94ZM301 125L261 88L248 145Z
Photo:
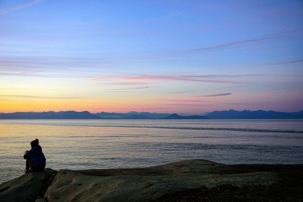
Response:
M302 78L302 1L0 0L0 112L295 112Z

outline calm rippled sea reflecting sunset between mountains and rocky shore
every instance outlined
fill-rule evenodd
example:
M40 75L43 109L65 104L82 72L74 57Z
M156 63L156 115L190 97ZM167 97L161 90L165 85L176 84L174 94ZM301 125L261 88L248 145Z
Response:
M0 120L0 183L24 173L35 138L55 170L303 163L303 120Z

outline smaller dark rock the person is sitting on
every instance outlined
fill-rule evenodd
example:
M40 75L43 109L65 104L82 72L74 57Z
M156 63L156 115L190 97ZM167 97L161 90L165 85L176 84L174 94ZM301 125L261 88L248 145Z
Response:
M35 201L50 184L57 171L46 168L45 172L26 173L0 184L0 201ZM43 196L42 196L43 197Z

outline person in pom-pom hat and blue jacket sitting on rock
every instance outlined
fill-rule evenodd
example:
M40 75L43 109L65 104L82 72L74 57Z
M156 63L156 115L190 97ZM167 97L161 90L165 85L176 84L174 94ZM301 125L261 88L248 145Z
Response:
M25 151L23 156L26 159L25 173L44 172L46 159L38 139L31 141L31 148L31 150Z

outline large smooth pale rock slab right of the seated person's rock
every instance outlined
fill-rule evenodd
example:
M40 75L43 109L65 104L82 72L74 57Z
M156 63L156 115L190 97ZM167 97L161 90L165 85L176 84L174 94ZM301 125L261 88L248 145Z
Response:
M228 170L231 166L199 159L135 169L64 169L58 171L44 197L49 202L149 201L185 189L269 185L278 180L271 172L218 174Z

